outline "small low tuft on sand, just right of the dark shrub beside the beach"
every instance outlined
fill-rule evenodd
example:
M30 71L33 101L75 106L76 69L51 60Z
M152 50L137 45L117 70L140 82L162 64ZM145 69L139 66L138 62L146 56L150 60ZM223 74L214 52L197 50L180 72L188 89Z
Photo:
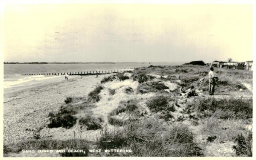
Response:
M97 130L101 129L101 123L103 119L101 117L92 117L91 115L87 115L79 120L79 123L83 126L86 126L87 130Z

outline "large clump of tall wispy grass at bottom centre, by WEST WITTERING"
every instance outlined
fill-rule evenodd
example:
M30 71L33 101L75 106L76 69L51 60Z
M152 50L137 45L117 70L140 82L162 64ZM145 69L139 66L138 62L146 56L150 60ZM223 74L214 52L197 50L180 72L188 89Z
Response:
M193 142L187 126L177 124L166 129L161 122L152 118L130 121L123 129L109 130L105 127L98 137L97 147L101 149L131 149L129 156L200 156L198 146ZM114 153L110 156L125 156Z

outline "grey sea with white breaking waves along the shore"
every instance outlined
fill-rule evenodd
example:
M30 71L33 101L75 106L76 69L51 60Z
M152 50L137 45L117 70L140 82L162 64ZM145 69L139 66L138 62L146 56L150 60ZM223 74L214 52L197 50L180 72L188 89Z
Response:
M47 74L67 72L93 72L123 70L135 67L153 66L176 66L183 63L114 63L114 64L4 64L3 88L15 88L28 86L32 83L55 81L59 76L49 75L24 75L24 74ZM63 77L63 76L62 76Z

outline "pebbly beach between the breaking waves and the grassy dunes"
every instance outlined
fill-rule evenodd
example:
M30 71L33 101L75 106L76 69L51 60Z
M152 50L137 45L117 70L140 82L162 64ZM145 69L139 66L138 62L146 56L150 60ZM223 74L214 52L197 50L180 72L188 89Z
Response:
M4 92L5 145L28 140L44 126L50 111L58 111L66 97L85 97L105 75L70 76L68 81L38 83L26 89Z

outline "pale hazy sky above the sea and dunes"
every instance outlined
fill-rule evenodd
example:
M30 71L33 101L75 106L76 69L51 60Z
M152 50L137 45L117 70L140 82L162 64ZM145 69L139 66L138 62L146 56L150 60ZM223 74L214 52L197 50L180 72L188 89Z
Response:
M5 62L253 60L250 4L6 4Z

